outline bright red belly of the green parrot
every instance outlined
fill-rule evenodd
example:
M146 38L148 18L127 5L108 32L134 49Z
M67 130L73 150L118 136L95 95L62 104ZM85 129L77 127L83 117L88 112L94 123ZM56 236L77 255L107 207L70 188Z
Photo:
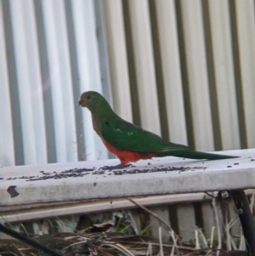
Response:
M151 157L156 156L156 154L140 153L135 151L120 151L104 139L103 142L107 150L111 151L112 154L115 154L123 165L126 165L129 162L137 162L141 159L150 159Z

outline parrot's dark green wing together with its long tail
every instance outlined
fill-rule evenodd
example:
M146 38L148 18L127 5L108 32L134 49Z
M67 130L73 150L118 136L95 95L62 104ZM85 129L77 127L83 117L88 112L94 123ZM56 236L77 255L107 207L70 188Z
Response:
M163 140L160 136L138 128L120 117L103 122L101 134L103 139L121 151L135 151L152 153L156 156L178 156L208 160L238 157L193 151L186 145Z

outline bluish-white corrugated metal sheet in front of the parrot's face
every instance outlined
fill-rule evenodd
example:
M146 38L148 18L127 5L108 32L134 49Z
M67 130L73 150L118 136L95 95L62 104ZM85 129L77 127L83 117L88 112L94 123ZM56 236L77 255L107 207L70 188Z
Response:
M0 6L1 165L107 158L88 111L77 105L85 90L109 91L94 1Z

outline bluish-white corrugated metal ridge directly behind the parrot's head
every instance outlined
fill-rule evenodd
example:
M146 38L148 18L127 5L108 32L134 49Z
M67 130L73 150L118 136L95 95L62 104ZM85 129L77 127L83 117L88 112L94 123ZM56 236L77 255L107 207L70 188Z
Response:
M102 93L93 0L72 0L71 3L81 94L88 90ZM87 160L108 158L105 146L93 130L87 109L82 109L82 117Z

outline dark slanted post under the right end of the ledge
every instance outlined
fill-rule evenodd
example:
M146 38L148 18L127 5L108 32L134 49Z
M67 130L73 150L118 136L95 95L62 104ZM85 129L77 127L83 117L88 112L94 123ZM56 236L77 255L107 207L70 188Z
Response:
M245 236L247 252L255 256L255 225L246 194L244 191L233 191L232 195Z

